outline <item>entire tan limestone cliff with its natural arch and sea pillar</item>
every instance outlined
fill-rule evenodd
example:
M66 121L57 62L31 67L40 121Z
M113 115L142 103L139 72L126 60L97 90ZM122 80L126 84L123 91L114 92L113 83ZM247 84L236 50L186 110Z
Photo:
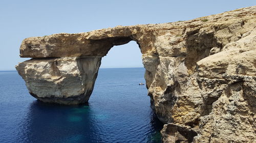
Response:
M27 38L17 71L44 102L89 100L101 57L136 41L163 142L256 140L256 6L164 24Z

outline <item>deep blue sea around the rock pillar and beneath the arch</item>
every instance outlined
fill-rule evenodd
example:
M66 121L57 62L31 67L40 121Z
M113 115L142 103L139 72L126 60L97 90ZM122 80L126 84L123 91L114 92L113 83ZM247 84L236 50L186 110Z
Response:
M0 142L161 142L144 68L100 69L87 105L46 104L0 72Z

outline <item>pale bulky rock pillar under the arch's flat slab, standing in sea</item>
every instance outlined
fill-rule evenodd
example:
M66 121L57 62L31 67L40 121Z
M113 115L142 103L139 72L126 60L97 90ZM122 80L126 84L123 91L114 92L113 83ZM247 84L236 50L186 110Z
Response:
M98 56L31 59L16 69L33 97L69 105L89 100L100 61Z

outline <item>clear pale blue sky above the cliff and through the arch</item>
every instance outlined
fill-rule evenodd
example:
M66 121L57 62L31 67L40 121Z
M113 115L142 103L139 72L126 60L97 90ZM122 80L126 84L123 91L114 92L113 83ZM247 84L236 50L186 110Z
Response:
M189 20L256 4L251 1L0 1L0 70L14 70L23 39L80 33L116 25ZM143 67L135 42L116 46L101 67Z

